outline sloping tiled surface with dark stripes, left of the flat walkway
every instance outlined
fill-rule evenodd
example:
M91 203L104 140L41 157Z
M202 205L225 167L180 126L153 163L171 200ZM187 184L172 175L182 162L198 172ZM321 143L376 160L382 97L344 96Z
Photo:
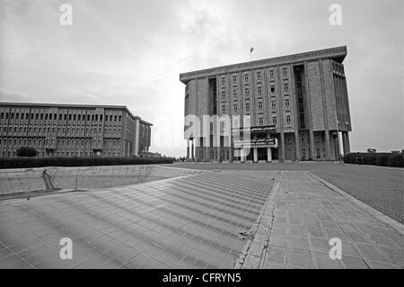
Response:
M231 268L275 173L210 172L0 203L0 268ZM73 240L61 260L59 240Z

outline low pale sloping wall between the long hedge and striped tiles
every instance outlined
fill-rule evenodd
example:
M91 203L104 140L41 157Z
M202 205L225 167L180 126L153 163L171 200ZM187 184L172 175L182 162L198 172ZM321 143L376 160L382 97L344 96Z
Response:
M196 175L205 171L167 166L38 167L0 170L0 195L44 191L43 172L55 188L90 189L139 184L159 179Z

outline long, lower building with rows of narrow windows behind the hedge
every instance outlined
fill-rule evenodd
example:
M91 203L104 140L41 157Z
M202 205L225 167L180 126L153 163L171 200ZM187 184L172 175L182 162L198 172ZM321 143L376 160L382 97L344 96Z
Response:
M126 106L0 103L0 157L128 157L148 151L152 124Z

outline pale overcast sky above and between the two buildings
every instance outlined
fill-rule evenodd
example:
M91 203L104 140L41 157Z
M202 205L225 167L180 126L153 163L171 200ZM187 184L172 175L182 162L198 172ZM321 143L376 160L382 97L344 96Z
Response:
M180 157L180 73L249 61L250 47L260 59L347 45L351 151L400 150L403 15L402 0L0 0L0 101L127 105L154 124L151 151Z

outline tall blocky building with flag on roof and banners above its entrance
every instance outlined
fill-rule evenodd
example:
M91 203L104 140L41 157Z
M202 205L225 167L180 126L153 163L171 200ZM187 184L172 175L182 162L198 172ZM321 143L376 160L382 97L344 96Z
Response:
M187 158L338 160L352 130L346 56L342 46L180 74Z

